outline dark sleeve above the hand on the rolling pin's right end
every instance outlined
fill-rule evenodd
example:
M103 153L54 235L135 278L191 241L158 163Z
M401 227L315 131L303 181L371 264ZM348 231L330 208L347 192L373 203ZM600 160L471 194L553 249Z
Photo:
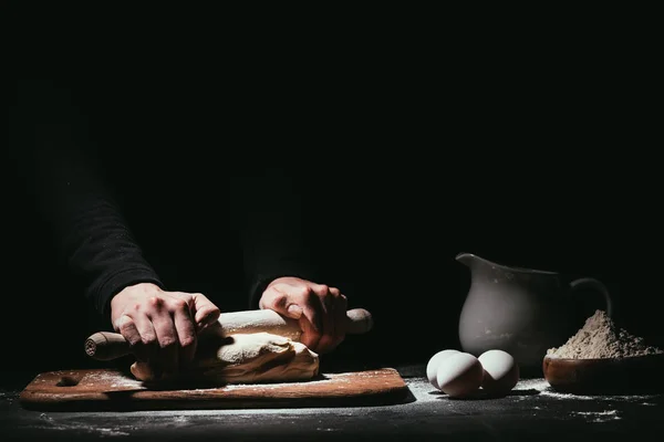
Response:
M257 166L235 173L231 201L243 253L249 308L277 277L318 282L300 183L286 168Z

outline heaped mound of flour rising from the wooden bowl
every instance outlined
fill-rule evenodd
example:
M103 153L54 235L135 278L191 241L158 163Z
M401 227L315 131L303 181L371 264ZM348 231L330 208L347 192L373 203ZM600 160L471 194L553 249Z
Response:
M625 358L658 354L664 351L619 328L603 311L596 311L589 317L583 327L564 345L547 351L549 357L571 359Z

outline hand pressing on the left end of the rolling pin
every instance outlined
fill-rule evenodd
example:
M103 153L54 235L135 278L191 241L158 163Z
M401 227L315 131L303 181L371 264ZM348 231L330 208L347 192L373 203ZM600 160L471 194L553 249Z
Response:
M151 283L127 286L111 299L115 332L156 378L174 377L191 361L198 333L219 314L200 293L166 292Z

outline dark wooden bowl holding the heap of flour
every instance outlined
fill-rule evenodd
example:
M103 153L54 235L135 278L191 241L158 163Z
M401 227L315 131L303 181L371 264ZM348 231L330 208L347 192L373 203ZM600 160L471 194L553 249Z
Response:
M664 392L664 355L606 359L544 356L544 379L572 394L656 394Z

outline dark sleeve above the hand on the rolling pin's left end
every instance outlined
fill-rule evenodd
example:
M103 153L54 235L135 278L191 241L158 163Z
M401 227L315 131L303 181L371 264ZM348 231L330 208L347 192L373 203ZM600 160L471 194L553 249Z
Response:
M52 81L18 81L10 107L10 143L19 175L56 254L95 309L127 285L162 285L132 238L105 186L84 114Z

